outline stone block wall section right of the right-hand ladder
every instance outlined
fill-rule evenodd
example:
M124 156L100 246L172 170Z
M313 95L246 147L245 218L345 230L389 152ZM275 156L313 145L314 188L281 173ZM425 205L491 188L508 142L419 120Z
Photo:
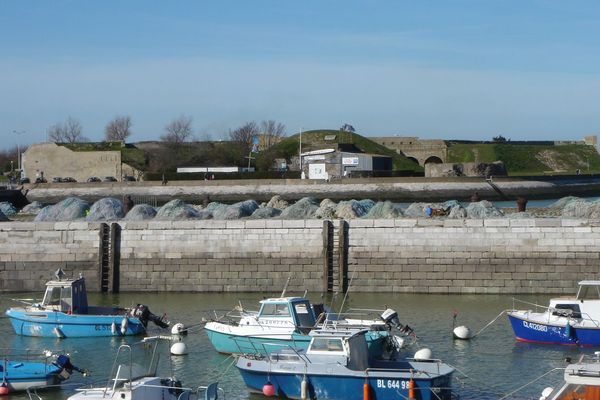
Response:
M598 279L600 221L350 220L353 291L568 293Z

